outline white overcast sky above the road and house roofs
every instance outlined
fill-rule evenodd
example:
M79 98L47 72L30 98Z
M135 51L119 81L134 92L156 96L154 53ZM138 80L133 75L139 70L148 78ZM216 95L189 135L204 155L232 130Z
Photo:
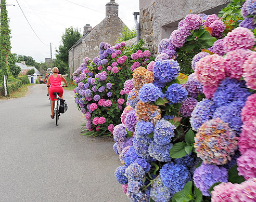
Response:
M17 1L6 2L15 5L7 6L11 29L11 52L32 56L36 62L44 62L45 58L50 58L50 43L55 58L55 49L60 45L61 36L66 28L73 26L81 29L82 33L85 24L94 27L100 23L106 16L105 6L109 0L18 0L33 30L43 43L33 33ZM116 0L116 2L119 4L119 17L131 29L135 26L132 14L139 11L139 1Z

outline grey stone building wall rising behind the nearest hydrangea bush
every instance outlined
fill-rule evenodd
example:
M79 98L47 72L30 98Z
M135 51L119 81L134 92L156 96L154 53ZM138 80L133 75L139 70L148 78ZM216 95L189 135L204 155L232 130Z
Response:
M157 53L161 39L169 38L178 22L191 14L217 14L229 0L139 0L140 38Z

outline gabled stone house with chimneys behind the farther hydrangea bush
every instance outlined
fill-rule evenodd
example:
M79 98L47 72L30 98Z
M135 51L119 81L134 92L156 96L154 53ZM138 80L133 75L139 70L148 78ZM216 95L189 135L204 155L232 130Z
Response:
M118 17L118 4L110 0L106 4L106 18L92 28L91 25L84 26L83 36L69 49L69 74L79 68L83 59L93 59L98 56L99 43L106 42L112 46L117 41L120 33L126 25Z

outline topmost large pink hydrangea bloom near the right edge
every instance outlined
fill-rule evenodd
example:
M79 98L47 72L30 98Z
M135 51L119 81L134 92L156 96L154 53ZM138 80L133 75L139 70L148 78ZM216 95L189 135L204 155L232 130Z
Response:
M223 47L225 52L245 48L251 49L254 45L255 37L251 30L247 28L236 28L224 37Z

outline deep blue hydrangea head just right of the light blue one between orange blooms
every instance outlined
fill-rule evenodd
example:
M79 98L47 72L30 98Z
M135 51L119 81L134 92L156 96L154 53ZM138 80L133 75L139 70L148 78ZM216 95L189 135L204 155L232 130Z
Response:
M165 91L164 96L170 101L171 104L181 103L187 98L188 92L180 84L172 84Z

